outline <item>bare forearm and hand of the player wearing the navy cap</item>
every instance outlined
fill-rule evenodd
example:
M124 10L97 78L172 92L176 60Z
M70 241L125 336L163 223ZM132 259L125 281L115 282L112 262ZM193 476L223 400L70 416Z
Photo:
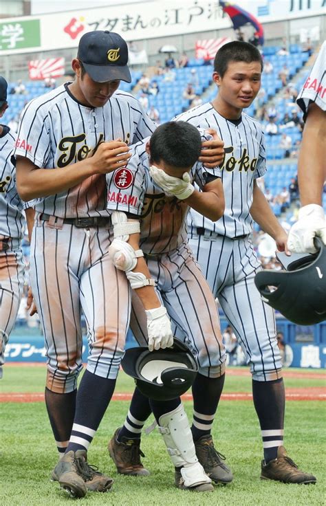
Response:
M107 174L124 166L130 157L124 142L102 142L93 156L60 169L39 168L17 156L17 190L28 201L65 192L95 174Z

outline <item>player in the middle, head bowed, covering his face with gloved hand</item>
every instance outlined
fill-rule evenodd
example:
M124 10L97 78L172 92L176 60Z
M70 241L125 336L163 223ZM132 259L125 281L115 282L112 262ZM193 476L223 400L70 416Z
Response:
M129 219L140 220L140 239L135 240L133 248L144 254L146 268L155 281L157 295L169 317L187 334L188 344L193 348L199 363L199 372L211 378L211 382L217 387L223 386L224 383L226 355L221 344L215 300L188 248L186 212L188 206L193 206L206 216L218 218L224 210L224 196L219 170L203 168L199 162L193 166L200 148L201 137L194 126L185 122L162 124L151 138L133 146L131 159L125 168L107 175L107 206L114 210L113 224L117 221L116 215L120 214ZM160 180L159 185L155 182L157 178ZM202 192L194 190L191 184L193 179L202 188ZM171 195L165 195L162 185L170 184ZM139 225L139 221L137 223ZM110 246L110 254L117 267L124 270L129 278L131 267L126 266L129 265L129 255L132 258L134 251L126 250L125 243L117 241L117 234L120 236L121 232L116 231L116 226L114 225L115 239ZM139 257L139 254L137 256ZM131 329L138 343L146 346L148 342L151 349L148 311L143 311L138 292L133 292L132 299ZM191 306L192 310L185 311L186 306ZM159 311L162 311L162 307ZM212 362L217 365L212 366ZM211 483L202 483L197 476L202 466L197 461L190 426L180 398L166 402L146 400L153 409L159 430L176 467L177 487L197 491L213 490ZM122 441L118 439L119 435ZM116 431L109 443L109 452L118 468L122 467L125 471L124 453L132 453L132 448L139 451L139 442L132 438L126 442L123 430ZM185 452L187 447L188 452ZM194 467L191 473L195 476L193 486L187 485L189 466ZM138 474L146 474L144 471L138 461ZM128 474L135 474L135 469Z

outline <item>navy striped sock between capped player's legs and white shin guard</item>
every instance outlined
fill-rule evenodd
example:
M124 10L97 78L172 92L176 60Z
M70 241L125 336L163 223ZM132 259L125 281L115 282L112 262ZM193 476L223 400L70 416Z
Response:
M122 441L122 437L128 439L140 439L142 428L146 419L151 415L151 406L149 405L149 398L142 395L138 388L133 392L133 398L129 406L129 411L126 419L124 420L123 427L119 430L117 439Z

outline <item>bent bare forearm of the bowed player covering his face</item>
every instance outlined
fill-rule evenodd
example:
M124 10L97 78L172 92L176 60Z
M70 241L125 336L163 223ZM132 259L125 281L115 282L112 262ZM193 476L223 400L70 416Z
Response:
M218 178L206 184L202 192L195 190L185 201L188 206L200 212L204 217L217 221L223 216L225 209L221 179Z

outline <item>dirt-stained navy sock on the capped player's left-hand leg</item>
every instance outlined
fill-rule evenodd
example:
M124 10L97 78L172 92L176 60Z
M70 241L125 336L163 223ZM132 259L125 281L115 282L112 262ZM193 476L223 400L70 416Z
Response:
M56 441L56 448L60 454L65 453L72 433L76 409L76 395L74 390L69 393L56 393L45 388L45 404L49 416L52 432Z

